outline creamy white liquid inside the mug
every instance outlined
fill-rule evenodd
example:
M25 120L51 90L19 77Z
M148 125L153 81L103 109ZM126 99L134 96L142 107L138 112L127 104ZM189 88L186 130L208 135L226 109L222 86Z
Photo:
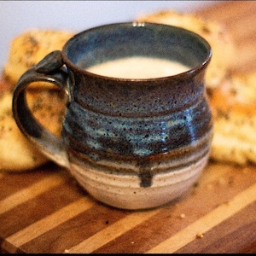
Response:
M190 67L177 61L151 57L127 57L86 68L90 73L118 79L157 79L186 72Z

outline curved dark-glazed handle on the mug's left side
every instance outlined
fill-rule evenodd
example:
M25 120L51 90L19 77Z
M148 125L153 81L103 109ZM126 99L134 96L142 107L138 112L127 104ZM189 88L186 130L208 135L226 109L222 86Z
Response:
M61 50L46 55L42 61L24 73L16 84L13 96L13 113L20 131L35 144L50 160L60 166L68 167L67 152L61 137L56 137L40 125L34 118L26 103L26 87L32 82L44 81L56 84L65 90L67 96L68 74L62 67L64 64Z

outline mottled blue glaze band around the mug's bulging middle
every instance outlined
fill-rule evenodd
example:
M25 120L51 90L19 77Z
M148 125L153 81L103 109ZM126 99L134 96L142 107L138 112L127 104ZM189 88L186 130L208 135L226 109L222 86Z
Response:
M165 153L193 143L208 131L211 114L204 108L206 103L201 98L180 112L152 118L123 118L95 113L73 102L67 111L63 133L92 151L137 156Z

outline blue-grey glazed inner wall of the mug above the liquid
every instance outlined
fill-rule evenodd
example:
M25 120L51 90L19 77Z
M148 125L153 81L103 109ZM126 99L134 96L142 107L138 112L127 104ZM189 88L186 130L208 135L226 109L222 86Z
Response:
M211 48L204 38L183 28L136 22L98 26L80 32L63 48L67 65L82 70L131 56L178 61L195 69L207 62Z

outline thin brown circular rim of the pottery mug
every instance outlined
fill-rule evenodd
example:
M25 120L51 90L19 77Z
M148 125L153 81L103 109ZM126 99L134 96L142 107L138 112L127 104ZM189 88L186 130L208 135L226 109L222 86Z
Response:
M96 31L96 30L100 30L104 27L111 27L111 26L132 26L132 27L137 27L137 26L170 27L171 26L172 28L175 28L177 30L186 32L187 34L190 34L194 38L196 38L197 40L201 41L201 43L207 49L207 55L206 55L204 61L202 61L199 65L197 65L195 67L191 67L183 73L177 73L177 74L173 74L173 75L170 75L170 76L159 77L159 78L149 78L149 79L115 78L115 77L111 77L111 76L104 76L104 75L97 74L97 73L91 73L91 72L87 71L86 69L84 69L82 67L79 67L78 65L74 64L73 61L69 60L69 58L67 57L67 47L68 47L68 44L71 44L71 42L75 38L79 38L81 35L84 35L85 33L93 32L93 31ZM128 21L128 22L109 23L109 24L102 25L102 26L94 26L94 27L86 29L82 32L78 32L72 38L69 38L67 40L67 42L64 44L64 46L62 47L62 50L61 50L61 55L62 55L62 59L63 59L64 63L66 65L68 65L69 67L72 67L73 70L75 70L79 73L83 73L85 75L91 76L91 77L95 77L97 79L108 79L108 80L114 80L114 81L132 81L132 82L142 82L143 81L143 82L145 82L145 81L156 81L156 80L160 81L160 80L171 79L171 78L177 79L177 77L182 79L183 76L195 75L196 73L200 73L201 69L207 67L207 65L209 64L209 62L212 59L212 47L207 42L207 40L205 38L201 37L201 35L199 35L198 33L189 31L188 29L185 29L185 28L180 27L180 26L172 26L172 25L166 25L166 24L154 23L154 22Z

